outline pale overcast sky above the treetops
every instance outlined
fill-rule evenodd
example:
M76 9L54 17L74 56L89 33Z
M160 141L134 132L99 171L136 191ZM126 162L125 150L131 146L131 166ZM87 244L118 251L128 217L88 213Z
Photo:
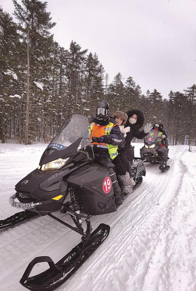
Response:
M196 83L196 0L49 0L48 11L54 40L96 52L110 82L120 72L163 97Z

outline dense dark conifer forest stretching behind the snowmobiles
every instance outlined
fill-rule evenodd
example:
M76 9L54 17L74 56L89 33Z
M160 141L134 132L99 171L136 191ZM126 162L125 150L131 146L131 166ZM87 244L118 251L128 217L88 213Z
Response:
M0 140L2 143L49 143L67 116L95 116L97 102L107 100L110 113L137 108L145 124L161 122L171 145L196 145L196 85L168 92L155 88L142 94L131 74L113 80L98 53L82 50L74 40L61 47L50 33L56 23L47 2L13 0L13 17L0 6ZM63 31L63 33L66 33ZM111 48L112 49L112 48ZM109 56L108 56L109 57Z

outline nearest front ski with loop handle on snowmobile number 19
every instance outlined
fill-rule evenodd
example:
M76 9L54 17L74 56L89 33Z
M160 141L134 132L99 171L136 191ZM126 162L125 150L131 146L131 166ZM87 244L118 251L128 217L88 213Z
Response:
M83 242L75 246L67 255L60 259L56 264L50 257L42 256L34 258L26 268L22 278L21 285L32 291L50 291L67 281L79 267L92 255L92 253L108 237L110 226L104 223L91 233L86 246L83 248ZM44 272L28 277L33 267L40 262L48 262L49 269Z

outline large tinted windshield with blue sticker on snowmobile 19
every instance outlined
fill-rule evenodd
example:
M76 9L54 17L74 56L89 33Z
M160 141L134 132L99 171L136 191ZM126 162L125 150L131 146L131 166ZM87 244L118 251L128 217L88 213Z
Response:
M91 144L89 139L90 125L87 116L73 114L68 116L61 126L58 134L52 139L47 148L63 150L72 145L77 139L83 138L78 150Z

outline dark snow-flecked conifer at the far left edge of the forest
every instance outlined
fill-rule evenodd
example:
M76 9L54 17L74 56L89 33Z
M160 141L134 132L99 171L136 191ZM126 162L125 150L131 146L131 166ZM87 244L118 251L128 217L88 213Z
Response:
M12 134L16 135L19 130L16 116L21 103L18 97L10 97L20 90L17 75L20 70L18 52L21 49L21 42L17 29L18 25L13 22L13 18L0 7L0 139L2 143L6 142L7 136L11 138Z

